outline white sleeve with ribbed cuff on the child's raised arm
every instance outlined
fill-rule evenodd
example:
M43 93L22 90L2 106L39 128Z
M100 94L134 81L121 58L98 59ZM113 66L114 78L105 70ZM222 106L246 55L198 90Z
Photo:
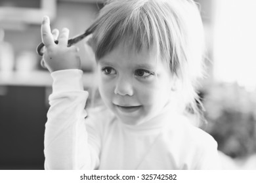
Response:
M95 169L98 150L88 142L83 72L67 69L51 73L53 93L45 124L45 169ZM97 138L97 137L95 137Z

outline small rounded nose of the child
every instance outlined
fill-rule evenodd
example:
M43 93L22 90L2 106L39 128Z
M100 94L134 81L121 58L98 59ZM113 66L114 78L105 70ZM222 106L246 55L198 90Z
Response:
M118 95L133 95L133 83L131 82L131 79L123 76L117 78L116 82L116 88L114 90L115 94Z

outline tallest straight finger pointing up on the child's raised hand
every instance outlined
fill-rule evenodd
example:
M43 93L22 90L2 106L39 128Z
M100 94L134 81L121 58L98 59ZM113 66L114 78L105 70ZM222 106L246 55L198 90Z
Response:
M43 17L43 22L41 25L41 35L43 44L45 44L45 46L50 46L54 44L53 35L51 33L50 20L48 16Z

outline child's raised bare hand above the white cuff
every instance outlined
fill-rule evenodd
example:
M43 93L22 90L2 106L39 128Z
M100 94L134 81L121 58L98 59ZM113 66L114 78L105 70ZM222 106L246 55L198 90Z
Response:
M54 29L51 33L50 20L47 16L43 18L41 25L41 36L45 48L43 51L43 65L50 72L64 69L80 69L81 62L78 55L78 48L68 47L69 30L62 29L58 37L58 30ZM54 40L58 38L58 44Z

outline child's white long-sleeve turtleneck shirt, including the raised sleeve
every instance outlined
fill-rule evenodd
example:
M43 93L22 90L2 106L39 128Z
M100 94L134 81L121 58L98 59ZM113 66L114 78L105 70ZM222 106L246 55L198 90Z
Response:
M168 108L140 125L104 107L85 111L82 71L56 71L45 125L45 169L219 169L217 142ZM85 118L87 116L87 118Z

